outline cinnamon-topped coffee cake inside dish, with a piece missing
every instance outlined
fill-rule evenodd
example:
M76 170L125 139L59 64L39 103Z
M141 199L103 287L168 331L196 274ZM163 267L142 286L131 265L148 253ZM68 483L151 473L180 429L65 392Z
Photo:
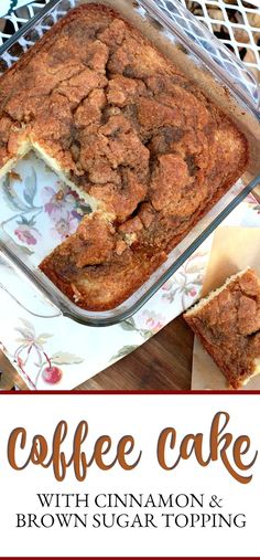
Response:
M86 239L78 230L41 264L96 310L142 285L248 161L230 119L100 4L72 10L0 80L0 134L2 168L34 148L97 211L100 237L113 223L108 253L85 218Z

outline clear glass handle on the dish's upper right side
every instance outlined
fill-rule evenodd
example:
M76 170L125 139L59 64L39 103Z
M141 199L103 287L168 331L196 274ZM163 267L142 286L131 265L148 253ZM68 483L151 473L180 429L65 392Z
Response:
M189 52L199 55L220 80L228 82L230 91L259 117L260 89L256 77L195 15L178 0L138 0L138 3L174 32Z

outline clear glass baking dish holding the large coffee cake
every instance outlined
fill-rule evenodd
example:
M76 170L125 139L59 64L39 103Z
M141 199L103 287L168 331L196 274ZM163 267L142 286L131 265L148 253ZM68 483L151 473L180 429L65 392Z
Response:
M9 67L47 29L80 3L90 3L90 1L51 0L39 14L0 47L1 71ZM198 83L206 95L223 107L245 131L250 147L249 167L241 181L215 204L141 288L123 304L109 311L87 311L73 304L37 268L37 264L45 255L42 253L37 255L34 252L32 257L30 254L32 252L24 252L24 247L19 246L6 228L9 220L3 220L0 226L0 249L6 263L15 272L15 282L6 283L6 285L0 283L0 287L22 307L39 317L50 318L64 315L85 325L109 326L132 316L151 298L221 221L260 183L260 92L249 70L177 0L139 0L138 2L101 0L95 3L106 3L117 9L162 52L172 57L175 65L182 70L185 68L185 73ZM2 203L1 208L3 209ZM21 232L24 233L22 225L23 223L20 228L20 240L22 240Z

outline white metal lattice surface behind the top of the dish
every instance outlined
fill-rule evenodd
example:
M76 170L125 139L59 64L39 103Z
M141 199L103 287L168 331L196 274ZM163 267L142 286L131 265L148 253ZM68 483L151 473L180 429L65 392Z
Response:
M260 78L260 0L178 0ZM0 45L50 0L39 0L0 20Z

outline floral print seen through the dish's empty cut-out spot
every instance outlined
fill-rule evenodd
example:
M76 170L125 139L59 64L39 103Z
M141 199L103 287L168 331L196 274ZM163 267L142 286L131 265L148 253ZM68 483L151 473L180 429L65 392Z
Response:
M2 181L0 200L7 215L0 225L20 246L30 247L28 254L34 255L39 264L55 245L76 231L89 208L35 156L30 161L30 167L24 160L20 161L18 172L8 173ZM50 236L44 234L46 231Z

